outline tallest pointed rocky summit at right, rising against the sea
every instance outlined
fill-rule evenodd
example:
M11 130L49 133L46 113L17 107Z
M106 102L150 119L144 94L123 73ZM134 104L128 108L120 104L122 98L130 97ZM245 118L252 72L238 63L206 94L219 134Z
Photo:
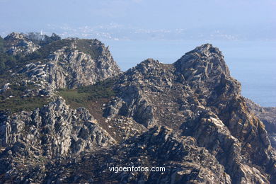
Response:
M196 47L174 63L176 73L185 84L200 94L209 96L209 101L221 96L240 96L241 84L230 76L222 52L210 44Z

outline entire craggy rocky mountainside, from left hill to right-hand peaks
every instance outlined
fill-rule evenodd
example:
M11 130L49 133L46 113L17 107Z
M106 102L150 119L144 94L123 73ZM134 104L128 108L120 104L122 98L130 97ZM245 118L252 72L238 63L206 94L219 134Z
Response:
M2 111L3 183L276 183L265 125L212 45L173 64L146 59L120 74L98 40L58 40L10 73L37 88L28 100L47 102ZM5 96L22 84L7 82ZM110 166L166 171L115 173Z

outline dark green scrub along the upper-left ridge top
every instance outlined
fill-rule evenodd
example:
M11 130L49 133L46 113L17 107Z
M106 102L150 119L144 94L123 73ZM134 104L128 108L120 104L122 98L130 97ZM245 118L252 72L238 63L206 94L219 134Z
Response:
M39 38L39 37L43 37ZM102 43L98 40L79 40L79 39L61 39L58 35L52 34L52 36L38 35L38 33L29 33L27 35L28 40L32 40L35 44L40 45L40 49L30 54L12 54L6 53L6 41L0 37L0 75L13 69L15 67L20 68L21 66L30 62L42 62L43 59L47 58L51 52L57 51L62 47L71 45L71 42L76 42L76 50L90 54L93 59L96 59L102 50ZM42 40L41 40L42 39ZM69 52L65 50L65 52Z

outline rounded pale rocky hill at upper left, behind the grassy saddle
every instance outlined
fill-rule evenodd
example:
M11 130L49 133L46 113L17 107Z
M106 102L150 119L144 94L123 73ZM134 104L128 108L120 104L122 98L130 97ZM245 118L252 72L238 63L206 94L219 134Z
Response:
M24 42L26 39L27 35L11 33L4 38L6 52L13 48L10 42ZM24 47L26 50L22 50L21 57L6 69L0 80L3 88L8 83L28 88L21 97L52 96L59 88L87 86L121 73L108 47L98 40L68 38L39 46L38 50L30 45ZM15 95L9 93L5 96Z

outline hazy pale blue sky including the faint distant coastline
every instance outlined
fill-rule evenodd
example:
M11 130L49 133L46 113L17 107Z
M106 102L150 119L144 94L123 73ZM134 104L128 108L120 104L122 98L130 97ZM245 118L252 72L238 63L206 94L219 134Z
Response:
M271 40L276 32L275 0L0 0L0 8L1 35L43 30L110 39Z

